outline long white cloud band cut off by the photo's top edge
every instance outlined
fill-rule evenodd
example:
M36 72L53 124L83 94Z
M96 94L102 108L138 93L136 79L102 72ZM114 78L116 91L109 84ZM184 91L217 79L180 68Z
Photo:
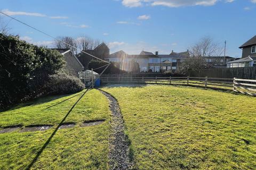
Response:
M168 7L180 7L180 6L211 6L215 5L217 2L234 2L235 0L123 0L122 4L126 7L138 7L143 6L143 4L147 3L152 6L162 5ZM251 0L256 3L256 0Z

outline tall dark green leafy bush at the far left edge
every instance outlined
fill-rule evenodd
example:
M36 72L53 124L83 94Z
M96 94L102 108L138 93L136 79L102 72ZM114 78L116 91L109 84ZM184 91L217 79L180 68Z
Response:
M55 50L0 33L0 108L42 94L49 75L64 64L63 56Z

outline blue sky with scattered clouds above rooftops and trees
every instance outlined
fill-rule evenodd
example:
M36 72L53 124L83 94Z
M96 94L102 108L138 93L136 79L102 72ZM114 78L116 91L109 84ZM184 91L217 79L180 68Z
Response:
M0 11L53 37L83 35L106 42L110 52L182 52L204 36L240 57L238 47L256 35L256 0L0 0ZM52 38L9 22L11 33L38 45Z

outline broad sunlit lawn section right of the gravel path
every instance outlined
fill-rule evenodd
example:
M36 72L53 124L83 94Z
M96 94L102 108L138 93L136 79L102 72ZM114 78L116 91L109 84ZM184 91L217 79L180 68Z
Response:
M184 86L102 90L121 106L138 169L256 169L255 97Z

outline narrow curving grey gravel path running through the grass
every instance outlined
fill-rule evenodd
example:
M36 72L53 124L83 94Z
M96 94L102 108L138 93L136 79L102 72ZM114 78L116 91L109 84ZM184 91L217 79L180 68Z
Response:
M101 91L110 101L111 128L110 146L109 146L109 169L132 169L132 163L129 161L128 144L125 140L124 121L120 112L117 100L105 91Z

